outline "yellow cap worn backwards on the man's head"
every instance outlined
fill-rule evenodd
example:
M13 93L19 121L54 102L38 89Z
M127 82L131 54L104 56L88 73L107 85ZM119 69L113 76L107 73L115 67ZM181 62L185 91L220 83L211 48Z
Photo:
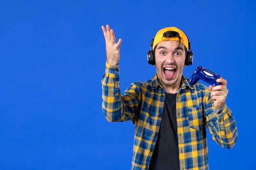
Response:
M177 33L179 33L180 35L180 38L181 38L181 43L184 44L184 46L186 46L186 49L189 51L189 39L188 37L186 36L186 34L176 28L176 27L166 27L164 29L160 29L157 34L155 35L155 38L154 38L154 42L153 42L153 49L155 49L155 46L161 42L161 41L165 41L165 40L174 40L174 41L180 41L180 38L179 37L171 37L171 38L166 38L163 36L163 34L166 32L166 31L176 31Z

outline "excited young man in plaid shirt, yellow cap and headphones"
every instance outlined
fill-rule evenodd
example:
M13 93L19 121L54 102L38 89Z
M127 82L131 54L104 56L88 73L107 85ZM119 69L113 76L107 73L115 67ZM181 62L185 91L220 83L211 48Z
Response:
M106 41L106 73L102 77L102 110L108 121L135 124L132 170L208 170L206 127L213 140L232 148L237 127L227 107L227 81L219 86L189 84L182 74L192 64L186 34L175 27L161 29L149 51L156 74L146 82L133 82L121 95L119 58L121 39L102 26Z

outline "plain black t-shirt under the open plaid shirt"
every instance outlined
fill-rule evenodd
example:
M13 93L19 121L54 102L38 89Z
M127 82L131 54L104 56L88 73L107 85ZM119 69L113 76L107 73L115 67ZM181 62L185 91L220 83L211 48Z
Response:
M176 96L166 93L162 122L149 170L180 170Z

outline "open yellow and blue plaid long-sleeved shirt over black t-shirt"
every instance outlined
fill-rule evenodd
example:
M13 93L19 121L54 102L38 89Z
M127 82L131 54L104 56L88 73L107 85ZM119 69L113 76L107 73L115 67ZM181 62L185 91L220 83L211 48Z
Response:
M119 67L106 63L102 77L102 110L108 121L135 124L132 170L147 170L157 141L164 110L165 91L155 75L146 82L133 82L121 95ZM210 91L203 84L191 86L182 76L176 97L180 170L208 170L206 127L213 140L232 148L237 139L236 121L227 105L216 110Z

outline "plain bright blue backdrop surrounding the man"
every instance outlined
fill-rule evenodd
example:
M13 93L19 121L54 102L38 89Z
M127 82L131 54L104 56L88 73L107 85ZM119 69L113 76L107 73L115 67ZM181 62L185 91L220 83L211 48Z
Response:
M0 169L130 169L134 125L110 123L101 110L101 25L109 24L123 40L121 92L155 74L146 57L155 33L182 29L194 53L184 75L201 65L227 79L238 126L231 150L208 135L210 168L255 170L255 8L249 0L1 0Z

